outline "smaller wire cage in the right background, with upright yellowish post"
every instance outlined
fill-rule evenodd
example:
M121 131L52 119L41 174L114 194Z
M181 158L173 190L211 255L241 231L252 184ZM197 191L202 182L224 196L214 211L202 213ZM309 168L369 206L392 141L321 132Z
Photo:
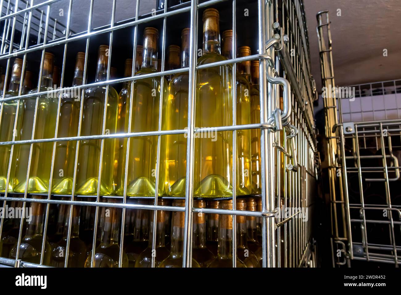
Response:
M328 11L317 20L322 85L330 90ZM355 260L400 264L398 85L384 81L350 86L355 88L346 97L340 90L323 95L333 266L350 267Z

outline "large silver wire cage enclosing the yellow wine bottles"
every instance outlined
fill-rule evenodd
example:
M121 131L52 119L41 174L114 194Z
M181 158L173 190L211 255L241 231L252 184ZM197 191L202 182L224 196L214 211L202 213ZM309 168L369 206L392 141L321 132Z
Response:
M108 24L94 25L94 20L98 20L101 15L94 14L96 4L94 0L90 0L88 6L88 14L85 19L85 30L77 28L71 31L74 14L75 0L67 0L66 9L63 14L65 17L65 26L63 22L58 22L56 18L51 17L51 11L59 10L60 3L63 0L47 0L38 1L34 3L33 0L28 2L24 1L6 1L1 0L0 7L2 7L2 14L0 16L0 26L3 30L2 47L0 54L0 63L6 64L6 78L4 82L4 93L6 85L8 84L8 76L10 73L10 65L14 57L23 59L22 77L26 70L27 56L36 57L40 59L37 68L41 68L43 64L45 51L52 49L59 52L62 57L61 62L61 85L65 90L74 90L77 87L65 87L64 77L69 71L67 63L68 57L71 55L70 47L75 45L83 45L85 47L85 67L83 70L83 85L79 90L87 87L105 85L115 85L126 81L134 81L144 79L146 77L160 77L163 75L172 75L175 73L188 72L189 73L189 93L188 93L188 129L185 130L170 130L164 131L161 129L161 112L159 115L159 129L152 132L132 132L130 129L127 133L107 134L103 128L103 134L93 136L81 136L78 134L73 137L60 138L57 136L57 131L53 138L36 138L34 135L35 128L32 131L32 138L29 140L12 140L9 142L0 142L1 145L11 145L11 155L8 161L11 163L12 151L17 144L30 144L30 157L27 171L27 179L29 179L29 167L32 157L32 146L39 142L53 142L53 155L52 155L52 173L54 168L54 151L56 142L60 141L75 141L77 142L76 153L79 150L79 141L88 139L101 140L101 150L103 151L103 141L107 138L127 138L128 144L130 138L138 136L160 136L166 134L187 134L187 151L186 151L186 196L185 207L173 207L158 205L158 199L168 198L165 196L158 196L158 178L160 167L160 140L158 141L157 149L157 163L156 163L156 193L154 198L151 198L151 204L133 203L132 199L140 199L141 197L129 197L126 195L127 175L125 175L124 193L122 196L102 196L100 189L97 189L95 196L81 196L73 193L68 195L68 200L60 199L59 195L53 195L49 192L42 198L34 198L33 194L28 193L27 188L21 195L8 192L8 185L6 185L5 193L2 193L0 200L4 205L6 201L20 201L23 202L22 210L27 210L26 203L39 202L45 203L45 222L43 226L43 242L41 251L41 262L39 264L21 261L19 259L13 260L9 258L0 258L1 264L6 264L15 267L43 267L43 252L45 247L46 233L49 224L49 205L51 204L67 204L71 208L73 206L94 206L95 207L95 227L93 233L92 249L95 248L95 239L97 236L97 224L100 216L100 208L119 208L122 212L120 230L119 230L119 245L124 245L124 230L126 228L126 214L128 210L142 209L142 210L165 210L168 212L180 211L185 213L184 224L184 250L183 250L183 267L191 267L191 251L192 251L192 219L193 213L205 214L228 214L232 215L233 220L233 267L236 267L236 216L256 216L262 219L262 256L263 267L315 267L318 266L318 261L314 251L314 241L312 239L312 196L314 194L315 181L317 178L315 166L315 153L316 141L314 136L313 125L313 112L312 102L316 98L316 89L314 88L314 81L310 75L310 59L309 59L309 44L306 28L306 20L304 14L303 2L301 0L274 0L274 1L249 1L243 2L239 0L209 0L209 1L182 1L182 4L176 6L169 6L169 2L163 1L162 9L154 9L146 11L141 8L142 1L136 1L134 5L134 12L132 17L117 20L116 11L119 7L116 4L117 0L112 3L108 2L110 9L107 17L109 17ZM148 4L148 2L146 2ZM120 4L121 6L127 4ZM211 63L207 65L197 65L197 48L199 44L199 16L201 12L208 7L217 7L227 13L228 20L225 20L227 27L232 28L233 35L235 36L239 31L237 24L238 8L255 9L255 30L251 31L249 42L256 45L257 54L249 57L236 57L237 56L237 41L233 40L233 59ZM245 5L245 6L244 6ZM23 6L23 7L22 7ZM131 5L132 6L132 5ZM104 10L104 9L103 9ZM143 13L141 12L144 11ZM35 17L37 12L40 12L39 17ZM60 10L61 13L61 10ZM104 15L104 14L103 14ZM107 19L106 17L106 19ZM174 26L170 24L170 18L177 20L178 17L188 19L188 27L190 28L190 58L189 66L186 68L165 70L164 64L166 59L166 45L168 45L167 36L174 35ZM18 29L18 23L22 18L22 28ZM39 19L38 19L39 18ZM37 22L38 20L38 22ZM256 22L257 20L257 22ZM37 29L34 29L34 26ZM99 39L107 40L109 43L109 59L113 60L113 56L117 56L118 52L126 46L126 36L132 36L130 46L133 51L130 52L135 64L136 47L139 37L139 29L147 24L156 24L161 28L161 45L159 52L161 53L162 66L161 71L147 75L136 76L134 68L132 69L132 76L127 78L111 78L110 77L110 63L107 68L107 80L90 83L90 69L88 55L94 45L99 44ZM75 33L79 32L79 33ZM128 33L127 33L128 32ZM16 42L17 37L20 36L20 42ZM36 34L36 36L35 36ZM245 34L243 34L245 35ZM123 37L123 38L115 38ZM125 39L124 39L125 38ZM115 39L119 39L116 41ZM12 45L12 46L11 46ZM194 132L208 131L211 128L201 127L196 129L194 126L194 100L195 100L195 87L196 87L196 71L201 68L213 67L217 65L229 64L233 67L233 83L236 81L236 63L247 60L259 60L259 75L261 77L259 83L260 89L260 118L259 124L237 125L235 122L235 103L233 103L233 124L231 126L216 127L217 131L230 131L233 132L233 183L235 183L235 175L237 171L235 162L235 146L236 134L238 130L260 128L261 129L261 211L241 211L236 210L236 191L233 186L233 210L223 209L210 209L210 208L194 208L193 206L193 167L194 167ZM38 86L41 82L41 73L38 75ZM162 79L163 81L163 79ZM163 83L163 82L162 82ZM161 86L163 87L163 86ZM39 88L39 87L38 87ZM21 95L22 85L20 86L18 96L13 98L0 99L2 109L0 110L0 118L3 111L4 102L8 100L22 100L36 99L36 109L38 108L37 97L44 94L57 93L57 90L40 91L36 94ZM236 98L236 87L232 87L233 101ZM106 90L107 93L107 90ZM283 97L283 106L280 108L280 97ZM60 108L61 96L59 96ZM107 96L105 97L107 101ZM160 104L162 98L160 98ZM82 102L81 102L82 104ZM82 108L82 105L81 105ZM132 108L132 107L131 107ZM105 103L105 111L103 122L105 122L107 110L107 103ZM59 111L59 110L58 110ZM132 120L132 110L130 110L129 122ZM35 112L36 120L37 112ZM16 114L18 117L18 111ZM82 122L82 112L80 113L79 124ZM58 130L58 119L55 130ZM131 125L131 124L129 124ZM104 126L104 124L103 124ZM15 136L14 136L15 137ZM77 155L77 154L76 154ZM126 163L128 162L128 153L126 155ZM101 163L101 160L100 160ZM284 164L284 165L282 165ZM10 167L9 167L10 169ZM77 170L77 159L75 160L75 171ZM101 167L99 167L99 179L101 177ZM9 181L9 174L7 177L7 184ZM75 180L74 173L74 180ZM51 187L52 178L49 179L49 187ZM98 181L100 185L100 181ZM26 186L27 187L27 186ZM38 194L35 194L38 195ZM66 197L66 196L64 196ZM86 198L86 199L85 199ZM106 198L117 199L117 202L109 203ZM149 198L148 198L149 199ZM277 212L284 212L286 208L296 208L295 212L289 215L277 214ZM23 211L24 212L24 211ZM72 212L72 210L70 210ZM24 216L24 213L22 213ZM156 218L154 214L153 220L153 248L155 248L155 235L156 235ZM71 237L71 218L69 215L69 226L67 236L66 252L69 252L69 239ZM3 228L3 219L0 225L0 238ZM17 245L21 243L22 232L24 228L24 218L20 220L19 233ZM17 247L18 248L18 247ZM119 266L122 265L123 246L120 247L119 252ZM18 257L18 253L17 256ZM92 251L91 266L93 266L94 251ZM65 258L64 266L68 266L68 255ZM152 266L155 266L154 257L152 256Z

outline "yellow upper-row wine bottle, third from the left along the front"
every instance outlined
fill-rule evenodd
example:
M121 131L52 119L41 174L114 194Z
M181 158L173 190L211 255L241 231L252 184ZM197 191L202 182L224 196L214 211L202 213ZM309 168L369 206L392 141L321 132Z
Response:
M73 87L82 85L84 65L85 53L78 52ZM57 137L77 136L81 90L77 88L71 92L62 92L60 103ZM64 195L72 193L76 147L77 142L75 141L56 142L52 193Z

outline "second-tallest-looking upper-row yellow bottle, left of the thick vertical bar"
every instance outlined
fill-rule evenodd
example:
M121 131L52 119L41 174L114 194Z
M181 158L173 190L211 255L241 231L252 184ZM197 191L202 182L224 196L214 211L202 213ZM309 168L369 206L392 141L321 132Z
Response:
M145 28L143 62L137 76L155 73L153 61L157 60L158 30ZM161 90L161 81L163 89ZM129 85L129 90L131 86ZM137 79L132 83L132 125L131 132L156 131L159 128L159 112L166 116L167 81L164 77ZM162 92L162 110L159 110L160 92ZM129 91L130 93L130 91ZM162 120L162 130L166 129ZM165 136L160 136L160 155L166 150ZM128 162L127 195L154 196L156 192L156 158L158 136L137 136L130 140L130 159ZM160 157L161 159L162 157ZM164 161L159 163L158 195L164 194Z

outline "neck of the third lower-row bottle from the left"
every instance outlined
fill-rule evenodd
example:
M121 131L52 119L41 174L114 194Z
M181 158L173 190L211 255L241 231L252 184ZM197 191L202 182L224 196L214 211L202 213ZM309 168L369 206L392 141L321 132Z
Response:
M119 214L117 208L107 209L105 210L105 216L103 217L103 228L100 237L101 246L118 244Z

